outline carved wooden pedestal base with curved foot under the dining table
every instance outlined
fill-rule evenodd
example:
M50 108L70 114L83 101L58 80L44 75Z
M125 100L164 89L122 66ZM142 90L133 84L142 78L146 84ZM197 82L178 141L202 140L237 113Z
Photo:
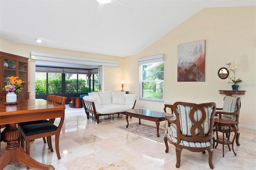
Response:
M17 128L16 123L8 125L5 136L8 144L6 150L0 156L0 170L3 170L8 164L14 164L17 161L36 169L54 170L54 166L42 164L31 158L18 144L20 129Z

